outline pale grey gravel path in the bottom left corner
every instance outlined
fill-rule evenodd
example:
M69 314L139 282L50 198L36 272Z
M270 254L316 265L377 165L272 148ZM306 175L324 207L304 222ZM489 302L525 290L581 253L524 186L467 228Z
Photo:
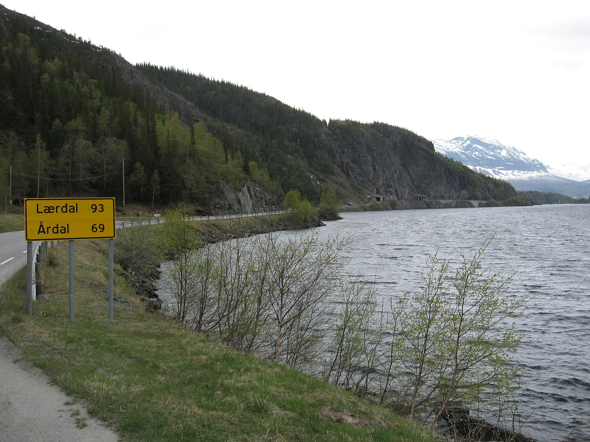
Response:
M70 400L59 387L51 385L44 372L25 362L12 342L0 338L1 442L119 440L112 430L89 417L83 405L65 405Z

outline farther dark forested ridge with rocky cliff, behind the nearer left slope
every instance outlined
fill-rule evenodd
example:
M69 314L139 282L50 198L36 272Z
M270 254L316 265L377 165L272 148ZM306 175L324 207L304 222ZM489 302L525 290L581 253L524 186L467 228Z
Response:
M434 151L431 141L388 124L319 120L302 110L225 81L173 67L136 65L152 83L182 95L211 116L207 125L232 149L252 151L283 189L298 187L317 199L317 182L331 182L343 200L367 193L414 199L506 199L509 183L473 170ZM207 118L207 117L206 117ZM222 124L226 123L225 125ZM234 134L242 143L234 141Z

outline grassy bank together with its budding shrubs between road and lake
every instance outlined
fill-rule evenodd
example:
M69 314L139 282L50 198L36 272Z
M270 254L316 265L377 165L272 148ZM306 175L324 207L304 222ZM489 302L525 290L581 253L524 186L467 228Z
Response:
M114 326L104 241L77 242L76 323L65 245L42 271L48 300L34 319L22 272L0 298L0 328L128 440L435 440L441 423L448 436L526 440L503 430L519 425L510 318L523 302L507 295L510 277L484 269L485 246L453 271L433 256L421 292L384 302L343 273L346 240L254 235L257 219L189 222L183 207L166 215L119 232ZM166 315L146 312L122 272L163 259Z

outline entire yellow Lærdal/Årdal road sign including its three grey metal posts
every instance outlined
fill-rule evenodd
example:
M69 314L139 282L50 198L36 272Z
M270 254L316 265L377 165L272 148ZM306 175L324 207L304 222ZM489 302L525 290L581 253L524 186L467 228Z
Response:
M70 321L74 322L74 240L109 239L109 323L113 322L114 213L114 198L25 199L27 308L30 315L32 314L32 271L30 271L32 241L69 240Z

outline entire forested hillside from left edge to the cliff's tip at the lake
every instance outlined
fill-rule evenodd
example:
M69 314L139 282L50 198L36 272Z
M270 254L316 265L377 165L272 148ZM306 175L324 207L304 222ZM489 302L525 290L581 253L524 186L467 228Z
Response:
M512 186L386 124L319 120L268 95L174 68L133 67L116 52L0 6L0 195L123 193L186 202L248 180L269 194L322 183L345 202L366 194L505 199ZM227 186L225 186L227 188ZM259 192L260 193L260 192Z

